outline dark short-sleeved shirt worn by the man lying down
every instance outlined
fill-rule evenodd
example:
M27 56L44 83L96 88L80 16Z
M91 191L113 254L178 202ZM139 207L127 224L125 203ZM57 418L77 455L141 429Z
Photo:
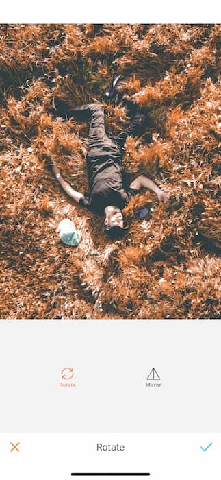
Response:
M94 153L94 154L93 154ZM99 151L94 149L87 158L90 193L81 197L79 204L99 215L103 215L106 206L112 205L122 210L133 195L135 189L125 189L122 184L120 168L121 155L118 147L105 146Z

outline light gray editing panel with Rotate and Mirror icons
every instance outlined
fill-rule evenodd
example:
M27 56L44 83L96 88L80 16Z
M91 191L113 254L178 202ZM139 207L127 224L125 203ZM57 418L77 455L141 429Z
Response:
M0 322L0 430L221 431L217 320Z

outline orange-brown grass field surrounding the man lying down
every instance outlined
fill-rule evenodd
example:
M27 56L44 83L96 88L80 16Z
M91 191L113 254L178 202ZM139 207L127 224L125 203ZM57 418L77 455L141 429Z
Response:
M218 318L220 302L220 25L0 25L0 317ZM133 197L110 241L53 177L88 189L88 124L53 115L54 95L100 99L114 75L148 115L129 137L127 181L145 173L168 193ZM103 101L107 132L127 121ZM148 204L151 218L133 220ZM56 233L64 218L77 248Z

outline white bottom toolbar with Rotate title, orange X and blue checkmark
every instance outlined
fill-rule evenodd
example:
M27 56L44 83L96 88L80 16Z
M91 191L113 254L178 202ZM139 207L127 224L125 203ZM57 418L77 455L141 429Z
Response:
M4 480L220 480L221 433L1 433Z

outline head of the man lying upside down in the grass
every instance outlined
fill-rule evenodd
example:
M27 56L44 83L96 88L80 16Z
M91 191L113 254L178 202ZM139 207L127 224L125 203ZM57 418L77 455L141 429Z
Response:
M107 206L105 208L105 231L113 240L125 236L127 227L125 227L120 208L115 206Z

